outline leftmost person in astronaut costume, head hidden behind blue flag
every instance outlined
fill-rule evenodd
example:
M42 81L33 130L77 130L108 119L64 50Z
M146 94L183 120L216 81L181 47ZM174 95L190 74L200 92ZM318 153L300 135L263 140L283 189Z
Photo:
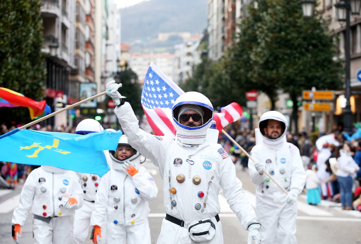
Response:
M35 244L73 244L74 209L82 205L83 191L75 172L45 165L34 169L14 209L14 241L19 243L21 226L31 210Z

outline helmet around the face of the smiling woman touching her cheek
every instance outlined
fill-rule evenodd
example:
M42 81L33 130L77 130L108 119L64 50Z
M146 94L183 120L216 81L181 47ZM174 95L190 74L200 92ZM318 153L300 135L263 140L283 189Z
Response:
M109 154L110 158L112 158L115 163L123 164L125 161L131 161L133 164L139 164L139 159L135 159L139 158L140 154L137 150L130 146L125 135L122 135L119 138L116 151L109 150Z

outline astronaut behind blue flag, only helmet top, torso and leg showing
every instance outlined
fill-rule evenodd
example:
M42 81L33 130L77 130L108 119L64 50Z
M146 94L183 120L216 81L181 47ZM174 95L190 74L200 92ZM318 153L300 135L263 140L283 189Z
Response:
M84 119L75 128L75 134L86 135L103 131L101 124L95 119ZM108 153L108 151L105 151ZM99 187L100 176L90 173L79 173L79 182L84 192L83 207L75 211L74 217L74 243L83 244L88 237L90 217L94 210L95 194ZM104 233L103 233L104 234Z

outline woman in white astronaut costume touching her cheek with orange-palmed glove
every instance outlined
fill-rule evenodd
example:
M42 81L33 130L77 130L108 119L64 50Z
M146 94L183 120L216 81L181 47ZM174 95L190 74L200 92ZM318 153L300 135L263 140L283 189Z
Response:
M93 243L99 243L101 230L106 226L111 234L106 235L103 243L150 244L148 201L158 194L155 181L140 166L140 154L129 145L125 135L120 137L117 150L109 153L113 168L101 177L91 216Z

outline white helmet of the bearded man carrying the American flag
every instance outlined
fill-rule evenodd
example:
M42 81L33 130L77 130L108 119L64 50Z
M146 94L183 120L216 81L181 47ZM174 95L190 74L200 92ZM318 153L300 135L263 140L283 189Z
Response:
M269 120L276 120L281 122L281 133L274 133L274 135L267 134L267 126ZM287 120L283 114L278 111L268 111L262 114L260 120L258 121L258 128L260 128L260 132L262 134L264 142L267 144L276 145L278 142L283 142L283 137L286 135L287 132ZM278 134L278 135L277 135Z

